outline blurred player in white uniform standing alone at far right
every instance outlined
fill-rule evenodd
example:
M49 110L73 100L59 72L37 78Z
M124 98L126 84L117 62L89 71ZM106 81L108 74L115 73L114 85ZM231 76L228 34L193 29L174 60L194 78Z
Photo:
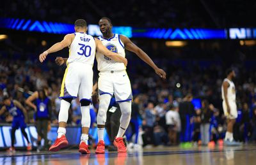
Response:
M225 134L224 143L226 145L240 145L233 138L233 126L237 118L237 106L236 87L232 79L236 77L236 73L233 69L227 69L226 74L227 78L223 80L221 86L222 106L224 115L227 118L227 133Z

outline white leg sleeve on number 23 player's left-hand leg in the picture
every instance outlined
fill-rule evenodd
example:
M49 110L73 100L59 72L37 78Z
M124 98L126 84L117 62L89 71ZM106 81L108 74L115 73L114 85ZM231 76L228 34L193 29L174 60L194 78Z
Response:
M111 99L111 96L109 94L103 94L99 96L100 103L99 103L99 111L97 114L98 125L105 125L110 99Z

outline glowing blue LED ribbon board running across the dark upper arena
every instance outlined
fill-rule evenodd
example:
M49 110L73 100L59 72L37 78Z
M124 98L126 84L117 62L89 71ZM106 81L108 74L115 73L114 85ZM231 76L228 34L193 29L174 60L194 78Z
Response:
M46 22L20 18L0 18L0 28L18 31L35 31L52 34L68 34L74 32L73 24ZM114 26L113 32L129 38L153 38L168 40L187 39L255 39L255 28L203 29L203 28L137 28ZM98 25L88 25L88 34L100 36Z

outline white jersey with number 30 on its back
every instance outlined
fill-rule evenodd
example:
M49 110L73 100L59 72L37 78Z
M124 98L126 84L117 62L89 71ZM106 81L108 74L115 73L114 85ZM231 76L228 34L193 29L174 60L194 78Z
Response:
M93 65L96 45L93 36L84 32L75 32L75 38L69 47L67 64L81 62Z

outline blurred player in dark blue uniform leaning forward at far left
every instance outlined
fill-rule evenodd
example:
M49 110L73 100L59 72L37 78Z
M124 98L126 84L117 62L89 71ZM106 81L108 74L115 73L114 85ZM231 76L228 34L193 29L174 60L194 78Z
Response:
M15 148L14 148L15 131L19 129L19 127L21 129L21 133L23 134L23 136L26 138L26 141L28 142L27 150L32 150L31 143L28 140L28 134L25 131L25 128L27 127L25 121L28 121L26 109L24 108L24 106L22 106L22 104L20 104L19 101L12 100L8 96L3 97L3 103L4 103L4 106L0 110L0 115L2 115L4 111L7 110L13 116L12 134L11 134L12 146L10 147L9 150L11 152L15 152Z

